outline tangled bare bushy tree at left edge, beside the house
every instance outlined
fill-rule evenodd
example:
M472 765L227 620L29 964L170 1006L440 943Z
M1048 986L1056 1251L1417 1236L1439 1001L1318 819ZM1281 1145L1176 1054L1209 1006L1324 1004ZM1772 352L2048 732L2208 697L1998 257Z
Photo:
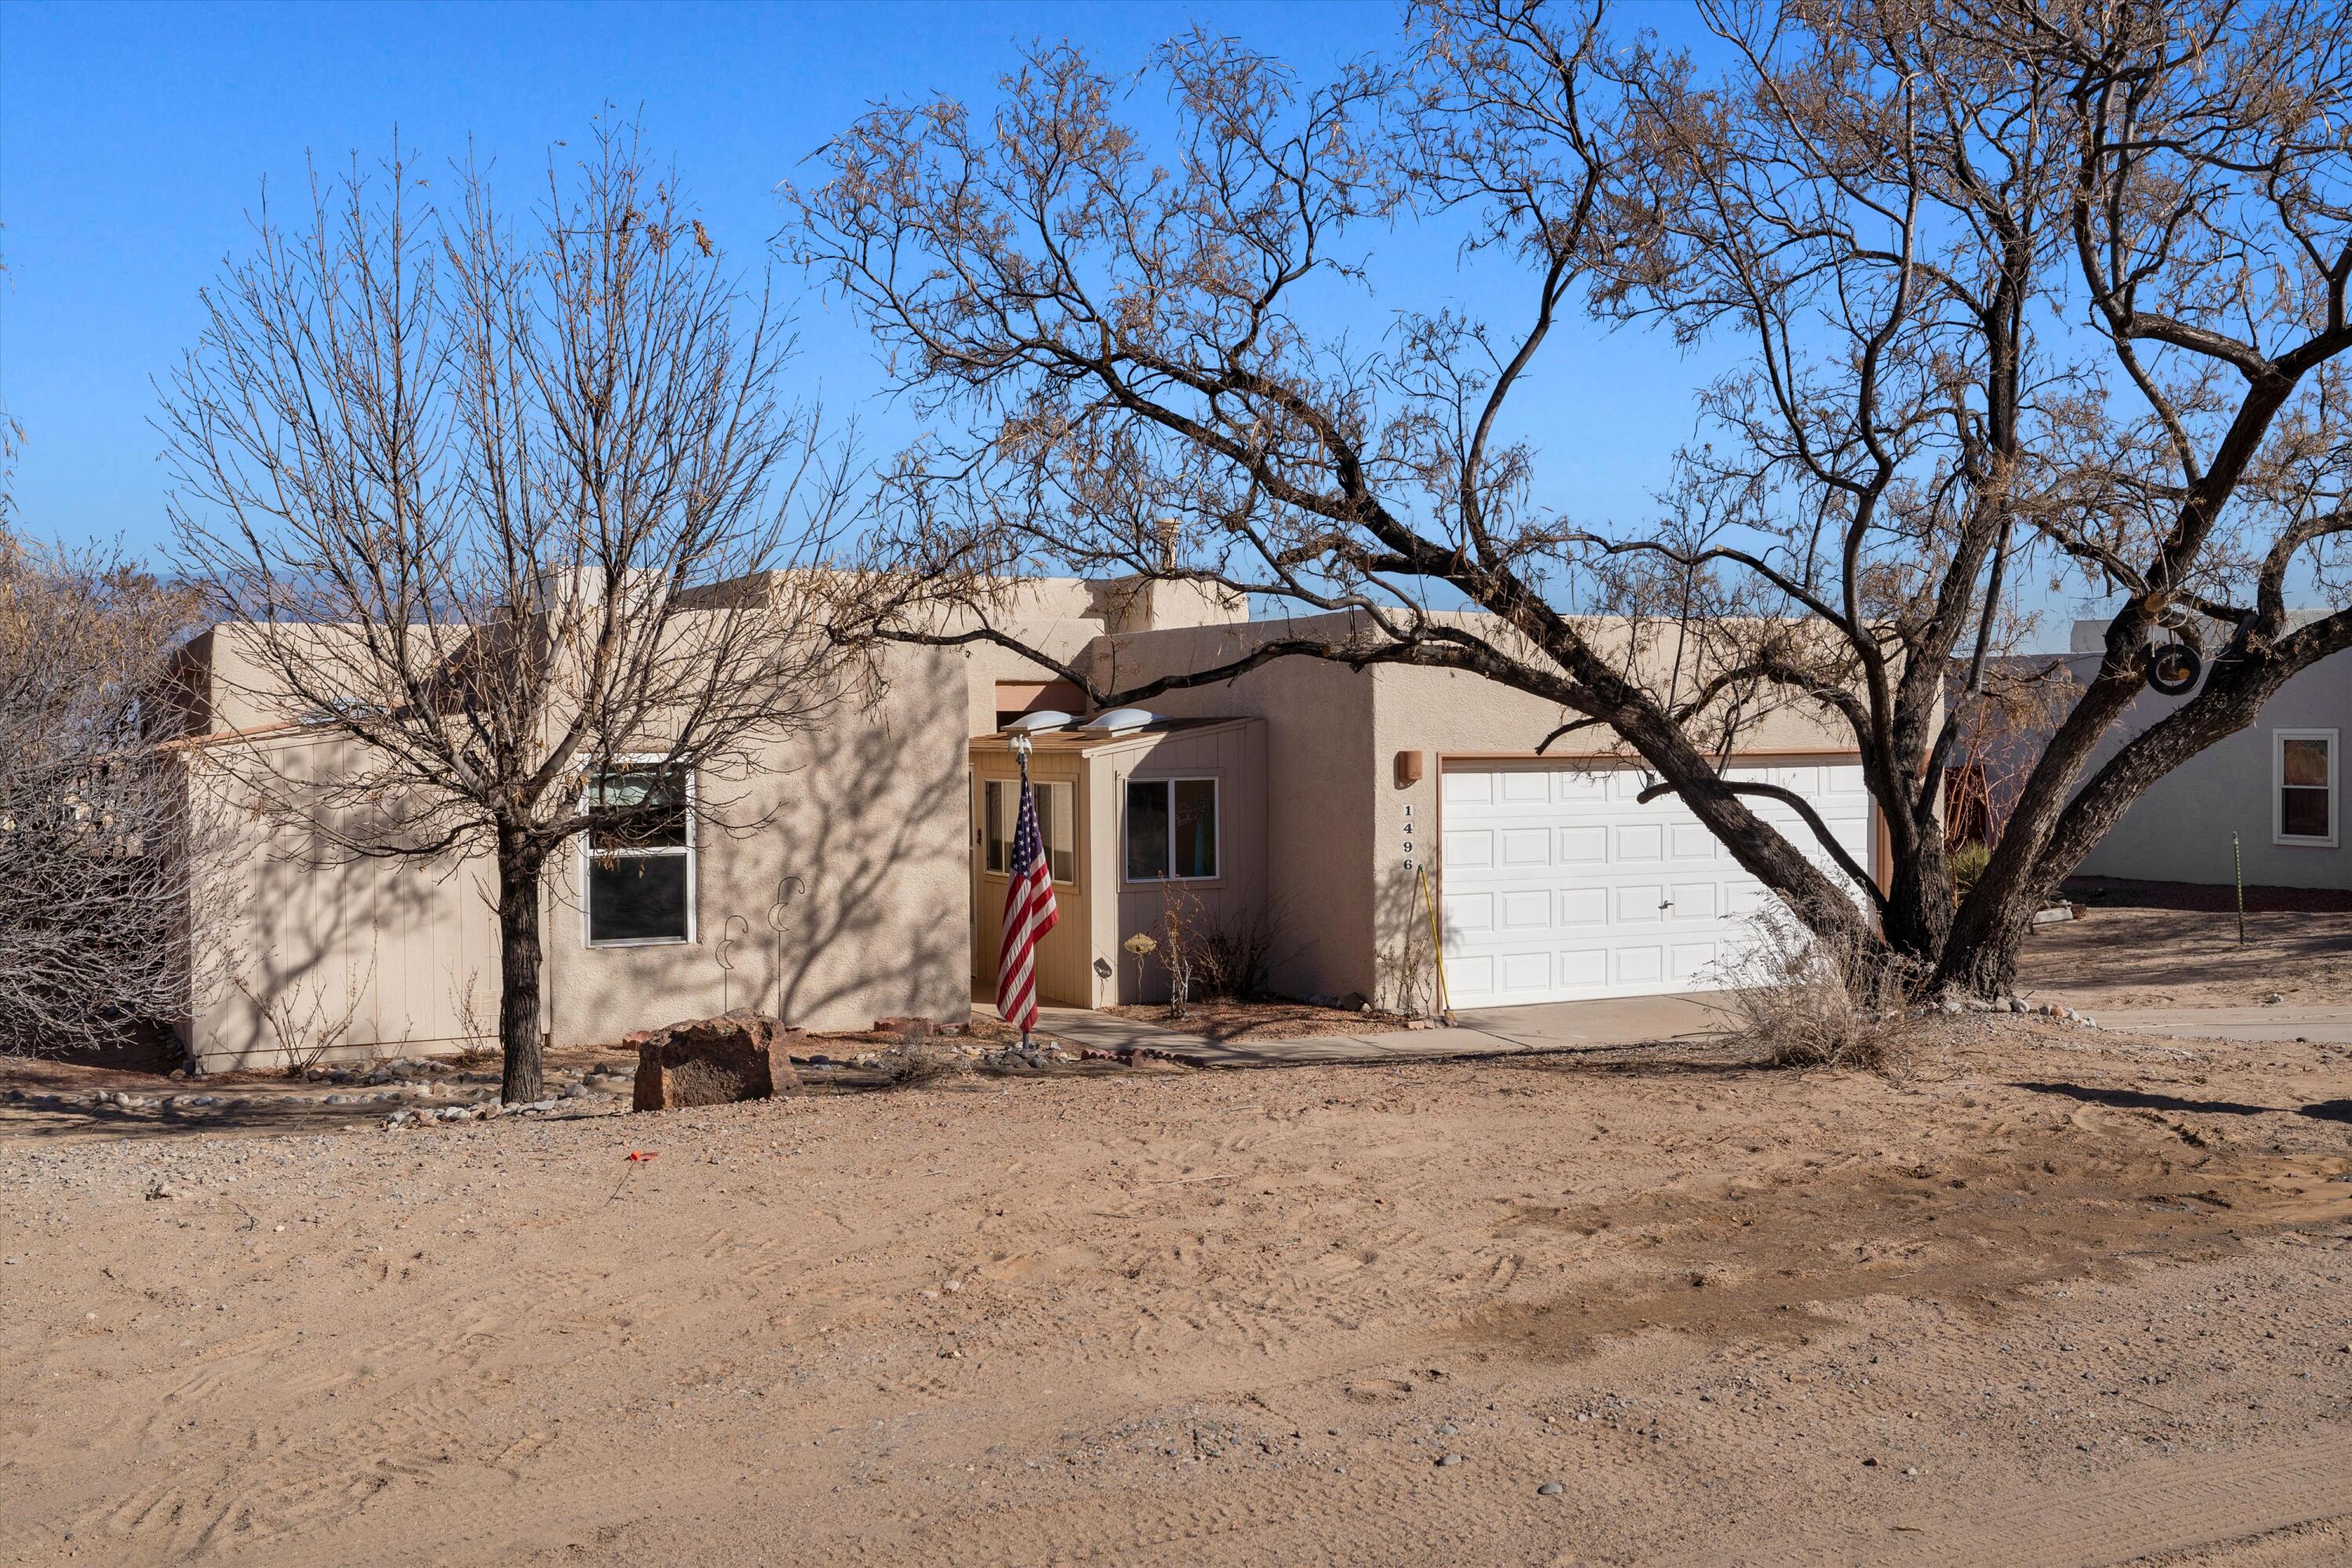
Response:
M0 529L0 1051L158 1039L216 980L158 677L191 595Z

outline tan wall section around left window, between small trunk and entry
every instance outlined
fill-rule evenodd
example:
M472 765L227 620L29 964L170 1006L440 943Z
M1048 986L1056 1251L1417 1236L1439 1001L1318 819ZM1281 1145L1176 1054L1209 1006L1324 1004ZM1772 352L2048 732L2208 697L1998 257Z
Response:
M691 943L590 947L583 851L557 856L546 922L555 1044L619 1041L722 1006L811 1030L969 1016L962 670L957 649L896 649L875 708L779 743L750 778L696 780L706 802L734 797L736 830L696 827ZM727 938L731 971L720 966Z

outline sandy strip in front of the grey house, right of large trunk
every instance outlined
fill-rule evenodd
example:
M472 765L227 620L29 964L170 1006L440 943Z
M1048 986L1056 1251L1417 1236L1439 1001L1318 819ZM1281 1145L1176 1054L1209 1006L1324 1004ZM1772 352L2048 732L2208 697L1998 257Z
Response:
M2089 1009L2298 1006L2352 1001L2352 914L2249 914L2237 940L2227 910L2082 905L2082 919L2025 943L2018 983Z

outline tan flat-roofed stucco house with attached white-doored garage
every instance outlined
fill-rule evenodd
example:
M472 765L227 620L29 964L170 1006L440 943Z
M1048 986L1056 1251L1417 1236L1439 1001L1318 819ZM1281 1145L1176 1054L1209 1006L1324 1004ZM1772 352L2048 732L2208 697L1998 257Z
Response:
M1023 588L1002 623L1105 686L1305 625L1169 585L1068 578ZM235 644L216 628L188 651L198 771L216 745L282 745L332 773L348 741L240 733L254 715L207 701L242 684ZM1432 905L1458 1009L1696 990L1726 978L1764 898L1672 797L1635 799L1639 769L1592 750L1538 757L1559 712L1470 675L1284 658L1167 691L1143 719L1056 724L1037 715L1073 712L1077 689L1004 649L901 646L889 672L877 708L844 710L734 785L734 816L757 830L682 827L562 860L543 922L553 1044L727 1004L809 1027L962 1018L995 973L1016 788L1002 731L1023 715L1044 724L1033 778L1063 905L1040 954L1047 1001L1167 994L1164 966L1124 943L1160 933L1169 903L1204 931L1254 933L1284 994L1430 1001ZM1882 872L1851 738L1830 719L1766 715L1733 771L1797 788ZM320 865L233 802L221 813L238 896L221 940L245 987L188 1020L207 1067L282 1060L289 1030L341 1027L339 1056L452 1051L489 1032L485 865Z

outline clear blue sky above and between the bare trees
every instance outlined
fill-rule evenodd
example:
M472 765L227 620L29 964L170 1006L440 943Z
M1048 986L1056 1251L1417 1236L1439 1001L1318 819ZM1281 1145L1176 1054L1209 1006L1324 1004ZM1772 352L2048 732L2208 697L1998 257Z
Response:
M1204 21L1315 75L1385 47L1399 12L1334 5L21 5L0 2L0 397L26 428L24 527L167 538L155 378L195 341L198 289L242 252L261 183L292 190L303 158L405 146L440 162L473 136L510 174L543 167L607 101L642 110L713 233L757 263L781 223L774 188L868 101L993 94L1033 38L1105 63ZM1468 301L1435 235L1383 235L1388 310ZM790 275L809 381L866 444L910 435L877 402L866 331ZM1637 517L1691 430L1696 367L1656 336L1552 355L1526 397L1552 454L1555 501Z

